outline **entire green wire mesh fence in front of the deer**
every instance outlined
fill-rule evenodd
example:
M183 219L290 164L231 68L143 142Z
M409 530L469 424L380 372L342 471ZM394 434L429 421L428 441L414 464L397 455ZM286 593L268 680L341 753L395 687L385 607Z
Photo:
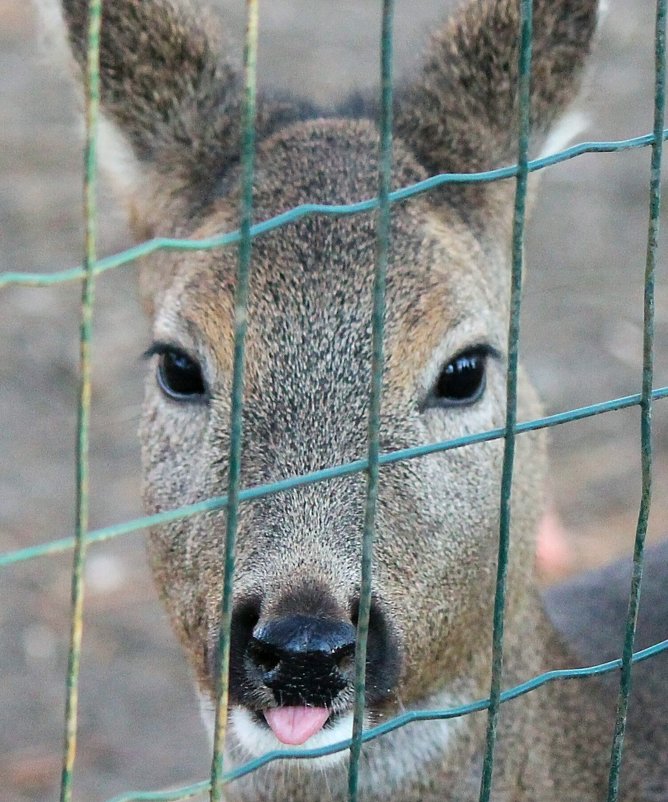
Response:
M371 740L382 736L392 729L404 726L416 720L428 720L436 718L450 718L478 710L489 710L489 727L487 739L487 753L483 778L481 784L481 800L489 800L491 793L491 772L493 767L494 741L496 716L499 705L506 700L527 693L534 688L540 687L546 682L563 679L566 677L591 676L594 674L610 672L615 669L622 669L622 682L620 687L620 697L617 716L616 737L613 747L610 769L610 792L609 800L617 798L619 768L623 746L624 721L626 715L626 704L628 701L630 667L634 662L649 659L652 656L668 649L668 641L654 644L648 649L633 652L635 619L637 616L637 604L640 593L640 578L642 573L642 558L644 549L644 537L647 526L647 516L649 512L651 496L651 411L654 400L664 398L668 395L667 387L653 388L653 285L654 270L657 253L658 223L660 215L660 179L661 179L661 150L662 143L668 137L668 131L663 129L664 107L665 107L665 3L662 0L657 2L657 35L656 35L656 94L655 94L655 125L652 134L634 137L628 140L606 141L581 143L553 156L530 161L528 158L528 147L530 140L529 132L529 108L528 108L528 82L530 76L531 63L531 2L522 0L523 25L522 25L522 47L521 47L521 115L520 115L520 150L516 165L502 168L499 170L479 173L476 175L442 175L428 179L418 185L405 187L395 192L389 191L389 175L391 170L391 108L392 108L392 79L391 79L391 45L392 45L392 6L389 0L385 0L383 12L383 39L382 39L382 77L381 86L383 89L381 107L384 113L381 115L381 143L382 153L381 171L379 175L379 194L378 198L364 200L358 204L345 207L341 206L306 206L291 210L278 218L252 224L251 207L251 188L253 180L253 129L254 129L254 91L255 91L255 59L256 59L256 31L257 31L257 3L254 0L248 2L248 36L246 44L246 106L245 106L245 131L244 141L244 206L241 214L241 227L239 231L222 234L210 238L206 241L193 242L192 240L153 240L144 243L121 254L117 254L106 259L98 260L95 253L95 142L96 142L96 115L98 89L96 82L97 60L98 60L98 37L99 37L99 17L100 3L92 0L90 3L90 30L89 30L89 70L88 70L88 91L87 91L87 159L86 159L86 255L84 265L81 268L54 273L50 275L31 275L25 273L7 272L0 275L0 287L12 284L27 284L30 286L47 286L49 284L61 283L63 281L82 280L82 326L81 326L81 392L80 392L80 412L78 424L77 441L77 524L74 538L67 538L59 541L52 541L41 546L28 549L13 550L0 555L0 568L5 568L11 564L18 563L37 556L57 553L59 551L74 549L74 568L72 582L72 633L70 648L70 665L68 671L68 690L67 690L67 710L66 710L66 733L65 749L63 760L63 779L61 783L61 799L63 802L71 798L71 779L74 767L74 755L77 738L77 675L79 666L79 654L81 648L81 620L83 614L83 565L85 554L90 544L128 534L148 526L158 525L168 521L173 521L189 515L227 508L228 515L228 534L227 551L228 555L233 554L233 544L235 535L235 511L240 503L252 499L261 498L264 495L283 492L287 489L299 485L313 482L326 481L338 476L349 475L356 472L366 472L369 476L368 484L368 504L367 517L364 534L364 563L363 563L363 590L362 600L366 600L366 613L361 604L358 625L358 659L356 661L358 693L356 696L356 726L352 742L345 742L332 747L316 750L299 750L291 753L290 750L280 753L270 753L262 758L242 766L233 772L225 772L222 763L222 744L224 740L224 727L226 722L227 700L225 696L225 683L222 683L222 693L217 715L217 736L215 739L214 758L212 764L212 779L203 781L186 788L178 789L175 792L130 794L116 797L115 802L130 799L187 799L203 791L211 791L212 799L220 799L221 788L224 782L231 782L236 777L254 771L259 766L276 759L289 759L290 757L305 759L329 754L337 749L351 748L352 754L357 759L351 761L350 775L350 798L356 799L356 772L358 767L359 750L362 741ZM517 376L517 353L519 348L519 316L521 281L523 266L523 243L524 243L524 219L525 219L525 200L527 191L527 178L530 172L544 169L547 166L558 164L559 162L582 155L588 152L619 152L627 149L639 147L651 147L652 150L652 174L651 174L651 202L650 202L650 223L647 247L647 268L645 277L645 325L644 325L644 360L643 360L643 383L642 390L637 395L606 401L600 404L588 405L579 409L569 410L565 413L548 416L539 420L522 421L516 419L516 376ZM435 187L447 183L468 183L474 181L494 181L503 178L514 177L517 181L516 206L515 206L515 227L513 236L513 290L512 302L513 313L509 330L509 374L508 374L508 403L507 420L502 429L488 432L479 432L458 440L434 443L428 446L403 449L392 453L381 454L379 448L378 433L378 405L380 403L380 372L382 370L382 340L383 340L383 282L384 271L386 268L387 249L389 247L388 221L391 214L392 203L412 197L421 192L427 192ZM369 426L369 453L366 459L361 459L355 463L332 466L323 471L306 476L298 476L287 479L283 482L273 483L267 486L240 489L238 486L238 474L231 471L229 492L224 497L213 498L205 502L188 505L180 509L170 510L153 516L144 516L140 519L123 522L121 524L105 527L99 530L89 530L87 516L87 452L88 442L87 433L89 428L90 412L90 354L89 341L92 322L92 288L94 277L105 270L117 268L128 264L142 255L146 255L155 250L162 249L204 249L212 247L222 247L231 244L240 245L240 273L238 280L239 296L237 306L242 310L247 302L244 287L246 286L248 271L251 268L252 240L254 237L262 236L273 228L284 225L302 215L326 214L344 215L356 214L362 211L378 209L378 264L377 280L374 300L374 343L375 343L375 369L374 385L371 404L371 419ZM245 278L244 278L245 276ZM237 352L235 355L235 382L234 382L234 401L232 414L232 453L230 464L234 465L240 457L241 444L241 408L243 384L243 325L245 314L239 315L237 328ZM627 625L627 636L624 644L624 654L620 660L591 667L589 669L573 669L553 671L539 677L529 679L521 686L501 691L501 672L502 672L502 652L503 652L503 609L505 598L504 571L507 564L507 548L509 538L509 503L512 492L511 477L513 466L513 446L515 436L526 431L549 428L555 425L579 420L585 417L621 409L629 406L639 405L641 409L642 432L641 450L642 461L642 501L638 520L636 547L634 554L634 579L629 601L629 614ZM378 481L378 468L383 464L391 464L405 459L416 459L428 453L445 451L459 448L474 442L483 442L491 439L504 439L505 458L502 481L501 497L501 532L500 532L500 551L499 551L499 577L497 580L497 603L495 610L495 638L494 638L494 665L493 679L489 699L476 700L469 705L451 710L425 710L407 713L399 716L381 726L371 728L362 732L361 728L361 709L364 701L364 642L365 629L368 626L368 602L370 599L370 571L371 554L373 542L373 519L374 519L374 493ZM231 587L233 577L233 560L228 560L226 568L226 592L223 599L223 622L228 621L228 625L223 627L221 637L221 669L222 677L227 676L227 661L229 659L229 615L231 613ZM365 620L366 619L366 620Z

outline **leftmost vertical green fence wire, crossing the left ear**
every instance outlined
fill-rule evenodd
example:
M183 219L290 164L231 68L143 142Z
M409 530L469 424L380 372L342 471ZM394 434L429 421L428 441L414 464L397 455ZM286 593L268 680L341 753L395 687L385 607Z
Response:
M65 696L65 734L60 800L72 799L72 775L77 750L79 709L79 668L83 636L84 564L88 531L89 429L91 405L91 338L96 258L97 190L97 119L100 107L100 24L102 0L89 0L88 38L86 48L84 147L84 278L81 290L81 323L79 328L79 403L77 408L76 442L76 518L74 556L72 562L70 646L67 658L67 690Z

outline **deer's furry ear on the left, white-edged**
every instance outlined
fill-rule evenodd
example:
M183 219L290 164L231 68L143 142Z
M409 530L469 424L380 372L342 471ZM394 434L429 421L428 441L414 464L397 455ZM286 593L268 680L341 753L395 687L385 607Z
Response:
M50 25L59 18L83 76L86 0L63 0L57 9L53 0L40 2ZM221 57L219 20L199 4L109 0L102 7L100 161L148 227L156 193L187 203L237 159L238 75Z

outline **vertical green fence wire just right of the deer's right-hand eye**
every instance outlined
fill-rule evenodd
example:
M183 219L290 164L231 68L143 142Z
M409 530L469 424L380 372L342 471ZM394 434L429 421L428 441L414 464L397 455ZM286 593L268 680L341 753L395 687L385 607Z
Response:
M494 748L499 720L501 682L503 677L503 635L510 546L511 493L515 460L515 434L517 426L517 368L520 339L520 309L522 296L522 269L524 261L524 224L526 218L527 181L529 176L529 139L531 131L531 38L533 33L532 0L520 4L519 48L519 142L517 157L517 184L512 238L512 274L510 290L510 322L508 325L508 373L506 379L506 426L501 475L499 515L499 554L494 596L494 631L492 634L492 681L487 717L487 736L480 802L489 802L494 770Z

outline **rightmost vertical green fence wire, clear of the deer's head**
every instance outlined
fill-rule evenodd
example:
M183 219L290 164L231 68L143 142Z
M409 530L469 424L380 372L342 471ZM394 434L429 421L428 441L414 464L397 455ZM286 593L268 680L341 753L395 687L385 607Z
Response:
M631 693L633 646L638 622L638 607L642 585L643 555L647 521L652 501L652 381L654 377L654 275L657 259L661 213L661 157L663 152L663 121L666 108L666 0L657 0L654 41L656 79L654 88L654 141L650 167L649 224L645 261L645 298L643 321L643 371L640 394L640 452L642 489L638 523L633 550L633 574L629 593L622 669L617 699L617 714L612 739L608 802L616 802L626 731L626 717Z

